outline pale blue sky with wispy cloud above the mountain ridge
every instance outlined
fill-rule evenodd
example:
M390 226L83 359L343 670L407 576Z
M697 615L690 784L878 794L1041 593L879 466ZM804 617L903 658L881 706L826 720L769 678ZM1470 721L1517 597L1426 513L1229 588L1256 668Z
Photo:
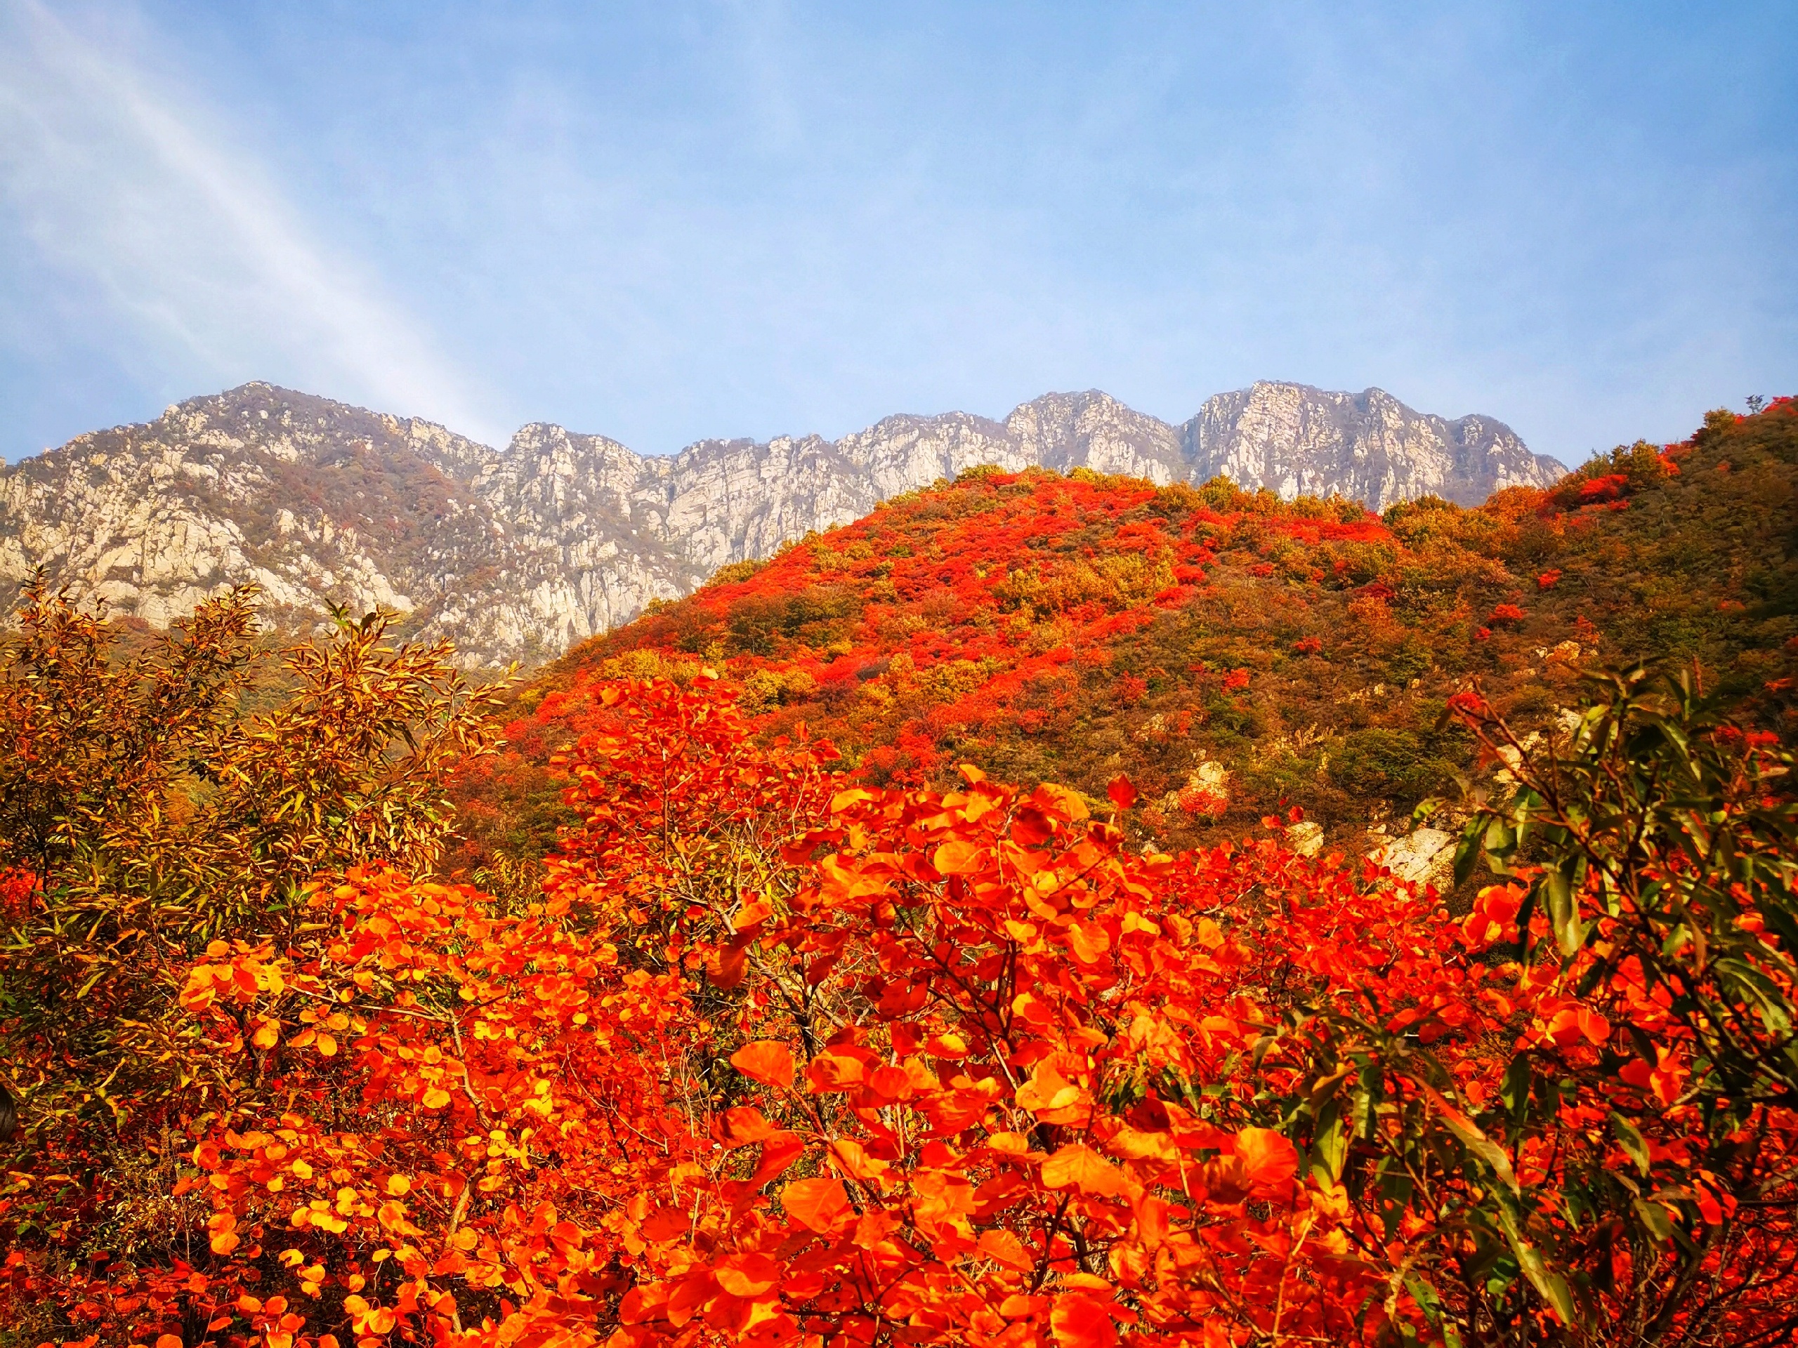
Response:
M1798 9L0 0L0 455L270 379L635 449L1798 392Z

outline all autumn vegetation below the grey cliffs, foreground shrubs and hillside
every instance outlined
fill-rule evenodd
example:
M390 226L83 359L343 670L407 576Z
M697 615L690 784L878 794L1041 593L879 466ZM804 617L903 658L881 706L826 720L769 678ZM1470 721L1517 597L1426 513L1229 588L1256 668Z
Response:
M1794 464L969 474L521 703L40 581L0 1348L1791 1343Z

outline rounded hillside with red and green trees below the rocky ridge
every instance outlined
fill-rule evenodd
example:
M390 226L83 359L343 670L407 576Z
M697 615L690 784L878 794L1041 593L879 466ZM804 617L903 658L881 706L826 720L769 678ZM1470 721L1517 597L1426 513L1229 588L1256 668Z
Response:
M595 681L707 665L762 737L827 737L874 784L940 787L966 760L1099 800L1127 773L1165 845L1295 807L1359 843L1456 793L1471 742L1442 710L1469 678L1544 730L1597 660L1696 660L1791 733L1794 537L1789 399L1478 509L973 471L550 667L460 787L464 857L550 845L568 818L550 758Z

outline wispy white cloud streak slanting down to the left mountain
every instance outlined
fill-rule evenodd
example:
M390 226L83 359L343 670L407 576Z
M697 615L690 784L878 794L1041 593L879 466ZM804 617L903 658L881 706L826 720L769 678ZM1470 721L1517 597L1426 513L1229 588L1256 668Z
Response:
M0 198L41 262L104 297L192 377L307 392L494 437L458 376L369 271L333 255L254 155L122 43L0 0ZM201 392L201 390L194 390Z

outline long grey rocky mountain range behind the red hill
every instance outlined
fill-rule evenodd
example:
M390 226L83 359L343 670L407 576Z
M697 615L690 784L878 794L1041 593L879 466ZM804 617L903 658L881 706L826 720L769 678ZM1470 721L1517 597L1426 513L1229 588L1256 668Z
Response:
M888 496L994 464L1205 482L1375 509L1546 485L1559 464L1487 417L1388 394L1255 385L1185 426L1099 392L1003 421L888 417L816 435L701 440L672 458L530 424L502 453L424 421L252 383L144 426L81 435L0 469L0 582L50 581L165 627L236 584L304 634L329 606L397 609L469 665L534 663Z

